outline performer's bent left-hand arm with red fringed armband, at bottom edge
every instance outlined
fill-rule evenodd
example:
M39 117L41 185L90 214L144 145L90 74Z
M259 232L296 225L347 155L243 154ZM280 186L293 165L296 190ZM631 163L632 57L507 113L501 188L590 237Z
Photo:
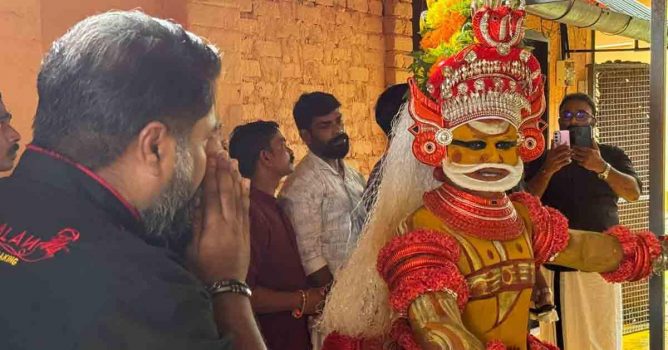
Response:
M397 236L378 254L390 305L400 315L391 332L405 349L503 349L485 347L462 323L468 301L466 279L457 267L459 245L450 236L418 229Z

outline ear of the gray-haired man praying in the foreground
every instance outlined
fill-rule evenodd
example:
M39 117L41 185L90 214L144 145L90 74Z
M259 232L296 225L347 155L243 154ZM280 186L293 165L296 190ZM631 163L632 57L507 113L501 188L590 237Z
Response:
M165 171L166 163L175 158L175 150L176 140L161 122L146 124L137 136L137 157L142 167L152 175L159 176Z

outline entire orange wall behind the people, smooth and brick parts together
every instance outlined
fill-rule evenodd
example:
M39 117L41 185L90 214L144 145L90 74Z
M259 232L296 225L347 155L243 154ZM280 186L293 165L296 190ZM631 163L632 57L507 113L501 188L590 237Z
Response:
M417 0L423 1L423 0ZM217 110L227 131L256 119L278 121L298 157L306 148L292 120L292 105L306 91L334 93L352 138L350 161L368 173L385 139L373 107L388 85L404 82L411 63L411 0L47 0L0 1L0 91L24 143L37 94L41 55L51 41L85 16L141 7L173 18L208 37L224 52ZM530 18L550 38L550 63L559 57L558 25ZM588 31L569 29L572 48L587 48ZM585 80L589 55L574 55ZM563 89L551 77L552 115ZM571 88L569 91L574 91Z

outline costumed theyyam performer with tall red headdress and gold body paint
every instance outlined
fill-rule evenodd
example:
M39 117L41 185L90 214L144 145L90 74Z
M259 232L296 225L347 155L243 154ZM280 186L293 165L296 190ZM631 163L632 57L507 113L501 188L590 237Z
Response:
M544 81L522 46L524 4L472 5L428 1L376 205L327 300L325 350L556 349L527 331L538 266L610 283L663 266L650 232L569 230L538 198L506 195L545 148Z

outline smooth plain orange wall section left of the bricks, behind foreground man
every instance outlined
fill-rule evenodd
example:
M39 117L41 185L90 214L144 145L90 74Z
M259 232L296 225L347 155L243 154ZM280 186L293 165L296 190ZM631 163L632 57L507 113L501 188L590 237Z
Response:
M186 24L186 0L0 0L0 92L23 145L32 140L40 61L56 38L87 16L141 8ZM25 148L21 148L21 152ZM8 173L0 173L0 177Z

